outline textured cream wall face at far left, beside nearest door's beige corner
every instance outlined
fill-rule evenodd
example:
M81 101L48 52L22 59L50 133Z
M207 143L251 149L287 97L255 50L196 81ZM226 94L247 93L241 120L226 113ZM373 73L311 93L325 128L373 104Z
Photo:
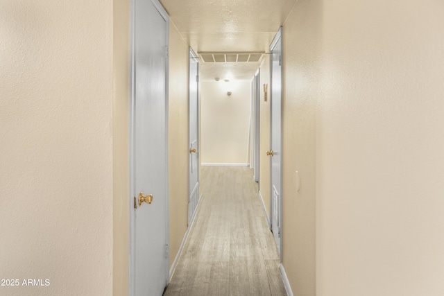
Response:
M112 17L1 2L1 295L112 294Z

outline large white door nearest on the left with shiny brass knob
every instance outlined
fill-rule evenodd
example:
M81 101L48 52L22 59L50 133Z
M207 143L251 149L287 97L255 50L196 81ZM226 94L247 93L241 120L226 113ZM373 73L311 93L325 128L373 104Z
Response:
M169 20L157 0L133 0L132 21L129 292L159 296L169 279Z

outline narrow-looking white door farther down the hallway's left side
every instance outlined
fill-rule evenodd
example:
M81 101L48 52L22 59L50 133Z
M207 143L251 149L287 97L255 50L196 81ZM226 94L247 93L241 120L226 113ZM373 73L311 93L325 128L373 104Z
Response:
M189 200L188 225L193 220L199 200L199 145L198 145L198 83L199 61L189 49Z

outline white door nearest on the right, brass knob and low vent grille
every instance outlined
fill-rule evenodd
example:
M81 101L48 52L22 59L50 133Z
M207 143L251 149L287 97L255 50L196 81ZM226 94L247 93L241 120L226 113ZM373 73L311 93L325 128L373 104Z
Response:
M271 231L282 259L282 28L270 46L271 58Z

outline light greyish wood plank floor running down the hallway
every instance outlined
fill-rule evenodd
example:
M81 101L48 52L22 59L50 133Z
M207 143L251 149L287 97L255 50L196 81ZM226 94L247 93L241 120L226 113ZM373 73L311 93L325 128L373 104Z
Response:
M164 295L287 295L253 172L203 166L202 200Z

